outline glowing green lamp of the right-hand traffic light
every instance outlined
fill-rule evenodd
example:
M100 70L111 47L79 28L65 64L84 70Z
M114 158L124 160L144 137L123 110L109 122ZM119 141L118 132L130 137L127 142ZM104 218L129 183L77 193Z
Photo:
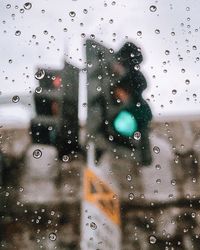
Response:
M113 121L115 130L122 136L130 137L137 131L137 122L128 111L121 111Z

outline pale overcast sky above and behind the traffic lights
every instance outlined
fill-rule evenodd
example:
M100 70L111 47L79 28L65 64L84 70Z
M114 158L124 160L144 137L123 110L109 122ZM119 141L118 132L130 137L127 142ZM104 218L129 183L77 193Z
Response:
M200 113L200 1L34 0L30 9L25 3L0 2L2 95L34 91L38 65L59 67L64 58L84 68L83 43L94 35L115 51L126 41L141 47L143 96L155 116Z

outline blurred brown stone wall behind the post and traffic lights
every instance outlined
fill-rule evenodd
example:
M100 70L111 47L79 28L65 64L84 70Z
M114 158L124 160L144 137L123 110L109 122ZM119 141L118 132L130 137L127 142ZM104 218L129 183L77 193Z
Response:
M199 124L152 123L151 166L113 159L123 250L199 249ZM79 249L84 157L61 162L53 147L29 144L27 130L19 138L1 132L1 248ZM28 146L14 154L15 143L25 138ZM36 150L41 157L34 157Z

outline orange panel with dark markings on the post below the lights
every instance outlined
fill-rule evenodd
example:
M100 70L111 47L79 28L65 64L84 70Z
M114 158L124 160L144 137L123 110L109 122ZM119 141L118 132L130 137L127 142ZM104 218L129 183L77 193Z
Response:
M84 171L84 199L95 204L115 224L120 224L117 195L89 168Z

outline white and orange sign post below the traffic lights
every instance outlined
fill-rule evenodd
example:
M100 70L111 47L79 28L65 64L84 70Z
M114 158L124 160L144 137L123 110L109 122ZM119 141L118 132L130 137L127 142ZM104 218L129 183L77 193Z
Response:
M86 168L83 176L82 250L120 250L120 205L112 180L99 167ZM108 177L108 176L107 176Z

